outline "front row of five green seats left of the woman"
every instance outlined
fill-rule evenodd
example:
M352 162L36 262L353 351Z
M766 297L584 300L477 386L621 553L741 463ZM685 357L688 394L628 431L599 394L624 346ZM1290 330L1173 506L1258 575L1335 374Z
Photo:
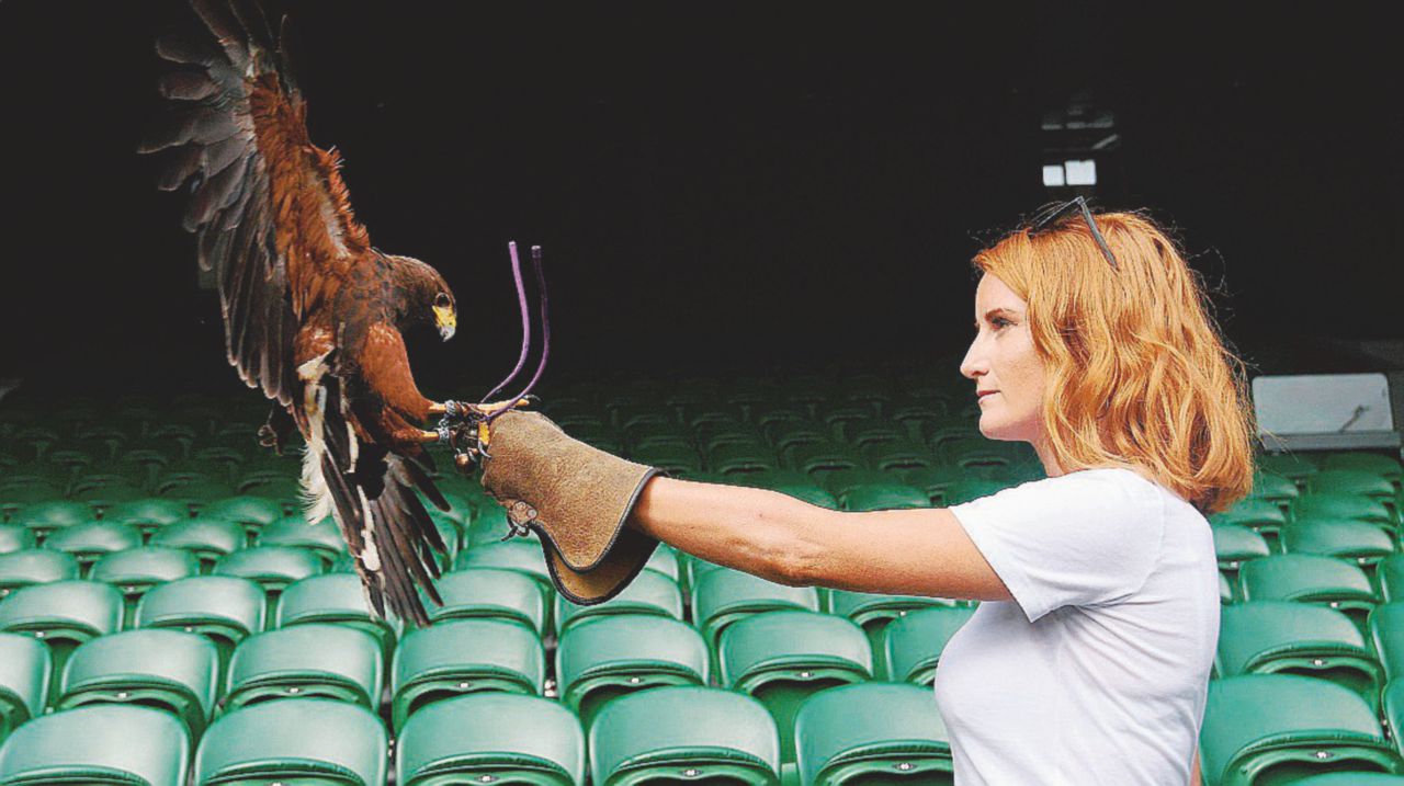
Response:
M951 783L951 742L929 689L868 682L813 693L796 709L804 740L781 761L779 730L755 699L716 688L665 686L612 702L588 728L559 703L482 692L425 707L399 731L396 783L550 786L703 780L837 785L894 772ZM854 717L868 719L854 724ZM194 757L190 751L194 750ZM365 709L317 698L233 710L191 745L170 714L133 705L69 709L0 745L3 782L150 786L278 780L383 785L389 735ZM789 769L786 776L782 771ZM91 779L91 780L88 780Z

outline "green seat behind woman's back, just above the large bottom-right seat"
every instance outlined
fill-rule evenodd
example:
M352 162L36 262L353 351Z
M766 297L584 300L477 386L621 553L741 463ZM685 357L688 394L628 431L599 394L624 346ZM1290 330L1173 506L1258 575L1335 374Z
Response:
M1384 671L1344 613L1290 601L1254 601L1223 609L1220 620L1219 677L1300 674L1349 688L1372 709L1379 707Z

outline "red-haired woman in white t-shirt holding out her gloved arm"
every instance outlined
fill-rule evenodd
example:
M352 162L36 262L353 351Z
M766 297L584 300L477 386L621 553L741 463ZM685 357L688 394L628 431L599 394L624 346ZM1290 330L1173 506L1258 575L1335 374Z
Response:
M585 458L512 411L484 484L525 500L534 524L584 526L581 495L597 504L609 486L584 479L615 477L607 519L628 514L630 531L705 560L789 585L984 601L936 674L958 783L1184 785L1219 636L1205 515L1250 488L1251 415L1174 243L1141 215L1075 206L976 255L960 364L981 434L1032 444L1045 480L952 508L834 512Z

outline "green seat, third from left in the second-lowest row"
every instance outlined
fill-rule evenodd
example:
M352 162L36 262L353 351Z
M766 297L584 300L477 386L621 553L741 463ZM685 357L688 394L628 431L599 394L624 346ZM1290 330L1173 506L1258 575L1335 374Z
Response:
M295 625L244 639L229 660L225 710L271 699L333 699L380 706L380 643L340 625Z

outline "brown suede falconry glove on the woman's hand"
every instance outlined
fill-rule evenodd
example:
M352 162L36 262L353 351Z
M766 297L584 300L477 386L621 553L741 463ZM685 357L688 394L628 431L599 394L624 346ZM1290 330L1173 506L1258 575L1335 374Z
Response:
M556 590L578 605L618 595L658 540L625 526L657 467L569 437L534 411L503 411L490 425L483 487L507 508L517 533L541 539Z

